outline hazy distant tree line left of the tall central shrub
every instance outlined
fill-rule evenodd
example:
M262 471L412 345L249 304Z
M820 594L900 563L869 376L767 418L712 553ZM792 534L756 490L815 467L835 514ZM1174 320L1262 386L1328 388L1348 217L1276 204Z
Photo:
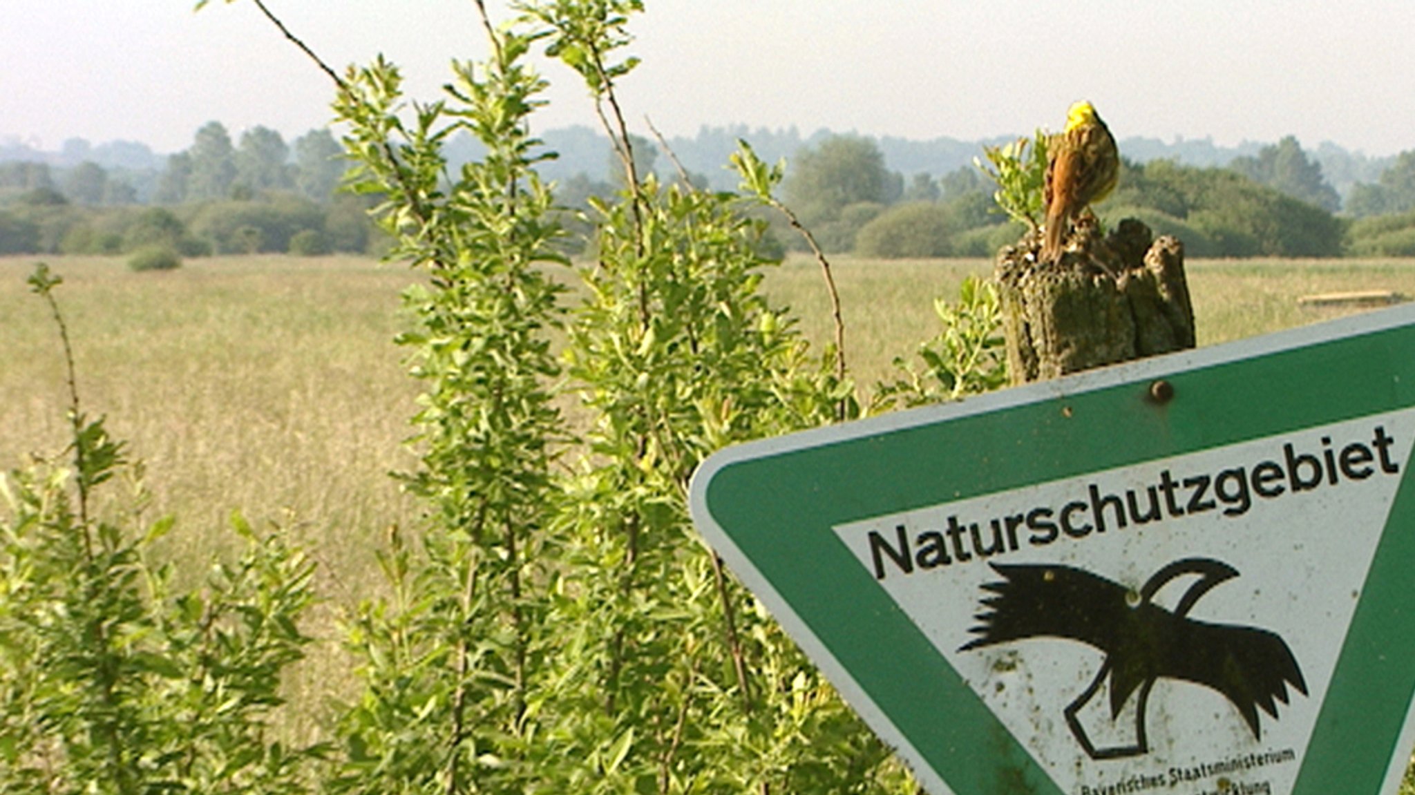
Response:
M219 122L197 130L191 147L147 180L93 161L0 163L0 253L376 250L368 199L337 191L344 170L328 130L310 130L290 147L258 126L232 143Z

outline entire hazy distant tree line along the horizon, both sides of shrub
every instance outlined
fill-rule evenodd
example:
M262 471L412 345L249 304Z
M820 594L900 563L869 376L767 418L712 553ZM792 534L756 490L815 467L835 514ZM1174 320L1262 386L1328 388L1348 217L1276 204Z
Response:
M993 185L974 166L907 175L889 166L957 164L979 151L976 141L824 132L802 139L794 129L705 127L696 139L672 139L671 158L659 151L661 141L635 137L638 171L669 180L686 168L700 187L732 190L724 173L693 164L734 143L733 134L751 137L768 156L777 150L788 157L784 198L829 252L992 256L1022 232L995 211ZM1159 141L1132 139L1122 141L1122 154L1125 143L1142 154L1163 151ZM623 168L607 141L583 127L552 130L545 144L560 153L542 168L558 181L562 221L572 232L567 248L579 253L573 232L589 228L587 202L620 190ZM137 146L116 150L123 163L143 161ZM1172 146L1190 163L1128 158L1119 190L1097 208L1102 219L1140 218L1157 233L1180 236L1193 256L1415 256L1415 151L1375 161L1323 144L1313 154L1288 136L1269 146L1245 144L1227 166L1203 166L1193 161L1214 161L1225 150L1211 141ZM0 161L0 253L112 255L167 246L201 256L378 252L382 245L365 215L369 199L338 192L345 160L327 129L287 144L279 132L256 126L233 141L224 124L209 122L160 170L74 163L100 150L72 140L64 147L68 166ZM454 164L458 156L480 156L470 136L449 151ZM1381 168L1373 171L1375 166ZM1340 173L1343 190L1327 168ZM781 240L799 245L780 226L767 245L781 249Z

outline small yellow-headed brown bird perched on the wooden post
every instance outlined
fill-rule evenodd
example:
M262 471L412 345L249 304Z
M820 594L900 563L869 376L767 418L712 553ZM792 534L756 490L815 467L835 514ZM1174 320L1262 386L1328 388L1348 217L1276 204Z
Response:
M1061 256L1061 240L1077 215L1115 188L1121 154L1109 127L1090 102L1077 102L1067 112L1065 130L1053 136L1047 150L1046 238L1041 262Z

